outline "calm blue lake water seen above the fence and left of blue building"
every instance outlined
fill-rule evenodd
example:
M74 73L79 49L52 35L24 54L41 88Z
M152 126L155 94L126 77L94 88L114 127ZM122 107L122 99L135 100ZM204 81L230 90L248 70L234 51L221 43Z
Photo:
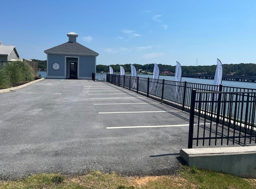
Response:
M42 77L46 78L46 71L38 71L38 75L39 74L41 74ZM130 74L126 74L126 75L130 75ZM138 77L153 78L153 75L139 74ZM159 79L174 81L173 76L160 75ZM200 84L213 85L213 79L198 79L198 78L182 77L181 81L187 81L188 83L200 83ZM256 82L253 83L253 82L242 82L242 81L222 81L222 85L228 86L228 87L256 89Z

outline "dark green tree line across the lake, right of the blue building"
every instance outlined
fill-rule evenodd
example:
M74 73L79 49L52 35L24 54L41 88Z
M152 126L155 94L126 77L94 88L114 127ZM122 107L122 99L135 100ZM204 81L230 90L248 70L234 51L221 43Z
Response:
M154 69L154 64L133 64L136 67L136 70L145 71L152 73ZM116 73L120 72L120 65L110 65L113 68L113 71ZM126 73L131 72L130 64L121 65L124 67ZM175 73L176 66L171 65L162 65L158 64L160 72L169 71ZM214 75L216 71L216 65L211 66L182 66L182 74L203 74L203 75ZM96 72L100 73L109 73L109 66L106 65L97 65ZM256 64L253 63L240 63L240 64L223 64L223 74L234 74L234 75L248 75L256 76Z

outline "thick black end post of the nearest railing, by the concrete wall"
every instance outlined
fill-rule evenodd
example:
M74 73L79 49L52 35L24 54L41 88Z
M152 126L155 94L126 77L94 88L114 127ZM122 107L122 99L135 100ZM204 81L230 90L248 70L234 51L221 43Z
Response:
M188 148L192 148L192 145L193 145L195 103L196 103L196 89L191 89Z

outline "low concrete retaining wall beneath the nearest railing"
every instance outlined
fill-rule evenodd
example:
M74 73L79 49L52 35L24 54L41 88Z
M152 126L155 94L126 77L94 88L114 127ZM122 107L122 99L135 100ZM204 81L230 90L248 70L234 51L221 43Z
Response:
M180 150L188 166L256 178L256 146Z

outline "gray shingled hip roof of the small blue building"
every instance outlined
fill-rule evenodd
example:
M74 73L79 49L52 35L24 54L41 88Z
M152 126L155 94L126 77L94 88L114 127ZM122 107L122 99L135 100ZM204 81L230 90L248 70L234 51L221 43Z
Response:
M93 55L99 54L77 42L66 42L44 51L46 54Z

